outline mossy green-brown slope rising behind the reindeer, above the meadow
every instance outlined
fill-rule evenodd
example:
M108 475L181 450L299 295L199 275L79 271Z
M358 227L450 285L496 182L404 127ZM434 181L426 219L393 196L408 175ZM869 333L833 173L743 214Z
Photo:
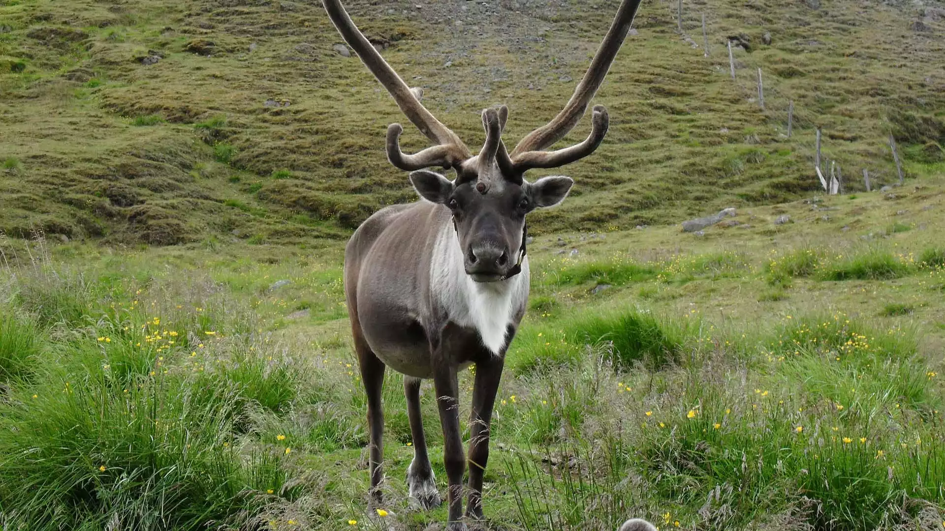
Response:
M617 2L350 4L387 60L426 89L424 103L478 146L483 107L510 107L509 143L559 110ZM538 216L537 230L799 197L817 186L816 126L851 190L863 168L880 185L894 180L890 132L910 179L943 171L940 2L686 2L685 37L675 8L644 3L596 98L610 108L608 139L566 169L573 197ZM709 58L696 44L702 13ZM318 3L7 0L0 231L312 244L411 200L383 152L387 124L404 118L338 42ZM765 111L754 101L759 67ZM424 143L408 129L405 148Z

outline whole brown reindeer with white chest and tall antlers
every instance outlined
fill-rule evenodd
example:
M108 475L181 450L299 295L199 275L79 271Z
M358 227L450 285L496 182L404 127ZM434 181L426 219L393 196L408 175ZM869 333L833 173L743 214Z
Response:
M404 128L387 128L387 160L410 171L421 200L389 206L354 231L345 250L345 295L354 349L368 394L370 492L381 504L384 414L381 387L387 367L404 374L404 394L414 458L406 473L411 505L430 508L440 497L423 436L420 385L433 379L443 430L449 487L448 530L466 529L462 479L466 470L459 431L457 372L475 365L469 443L466 518L481 520L482 482L489 459L492 405L505 354L528 299L526 214L557 205L574 180L524 180L532 168L574 163L600 145L608 112L593 107L591 134L575 146L547 151L584 115L627 37L640 0L624 0L607 36L564 109L507 152L502 141L508 110L482 111L486 142L475 155L421 104L422 91L381 58L335 0L323 0L328 16L354 52L393 96L397 106L436 146L416 154L400 148ZM427 167L454 169L455 180Z

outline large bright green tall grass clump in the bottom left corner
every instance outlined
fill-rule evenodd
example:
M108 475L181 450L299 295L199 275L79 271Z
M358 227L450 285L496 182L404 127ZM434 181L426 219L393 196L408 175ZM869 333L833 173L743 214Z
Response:
M286 486L282 449L240 449L236 386L195 383L46 372L3 406L0 505L35 529L239 526Z

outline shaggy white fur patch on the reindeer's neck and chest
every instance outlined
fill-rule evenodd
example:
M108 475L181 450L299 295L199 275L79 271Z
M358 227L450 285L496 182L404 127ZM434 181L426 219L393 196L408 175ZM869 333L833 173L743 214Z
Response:
M522 272L507 281L477 283L466 274L463 253L452 223L437 236L430 262L430 290L447 316L460 326L474 328L493 354L506 345L508 325L528 298L528 257ZM515 257L518 260L518 255Z

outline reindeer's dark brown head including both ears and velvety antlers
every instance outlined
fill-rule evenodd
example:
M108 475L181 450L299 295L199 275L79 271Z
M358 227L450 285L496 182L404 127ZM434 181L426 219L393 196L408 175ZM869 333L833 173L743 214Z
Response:
M387 159L400 169L412 171L410 181L421 197L445 205L453 212L456 234L466 272L476 282L504 280L518 272L524 253L525 214L536 208L557 205L568 195L574 180L545 177L524 180L531 168L556 168L582 159L600 145L607 133L608 114L603 106L593 108L590 136L576 146L557 151L544 149L563 138L584 115L604 76L627 36L640 0L624 0L591 67L577 85L575 94L547 125L537 128L508 153L502 142L508 110L505 106L482 111L486 143L472 155L458 136L441 124L421 104L422 91L409 89L404 80L354 26L336 0L322 0L338 32L358 57L387 88L407 118L437 146L414 155L400 148L404 128L387 128ZM455 180L422 169L441 166L456 171Z

